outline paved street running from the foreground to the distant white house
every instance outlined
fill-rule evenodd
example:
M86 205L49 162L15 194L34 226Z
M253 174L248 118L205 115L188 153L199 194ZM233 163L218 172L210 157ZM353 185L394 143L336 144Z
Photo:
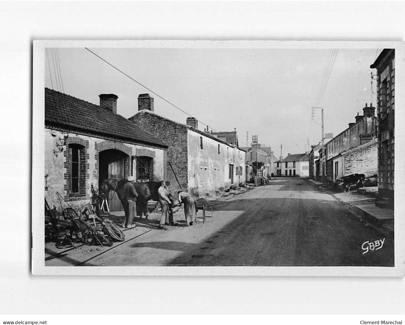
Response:
M216 202L214 209L213 222L148 232L91 263L182 266L393 266L394 263L394 241L389 233L362 220L305 179L276 179L271 185ZM364 242L380 240L384 240L381 249L364 253Z

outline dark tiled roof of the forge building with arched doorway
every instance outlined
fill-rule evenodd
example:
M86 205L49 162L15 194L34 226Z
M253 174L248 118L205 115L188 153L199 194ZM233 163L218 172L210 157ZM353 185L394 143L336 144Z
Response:
M100 106L45 88L45 125L167 148L151 133Z

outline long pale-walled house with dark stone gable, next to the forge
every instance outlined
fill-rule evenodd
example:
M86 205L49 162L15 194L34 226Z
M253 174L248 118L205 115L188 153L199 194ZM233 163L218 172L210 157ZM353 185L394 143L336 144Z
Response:
M138 112L128 120L168 144L164 174L171 192L181 188L204 197L245 184L245 151L200 131L194 117L182 124L160 116L154 112L153 97L141 94Z

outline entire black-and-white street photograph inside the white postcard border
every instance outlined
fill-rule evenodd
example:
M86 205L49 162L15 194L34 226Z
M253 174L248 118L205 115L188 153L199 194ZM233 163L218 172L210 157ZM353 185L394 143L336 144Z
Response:
M44 58L45 266L395 266L395 49Z

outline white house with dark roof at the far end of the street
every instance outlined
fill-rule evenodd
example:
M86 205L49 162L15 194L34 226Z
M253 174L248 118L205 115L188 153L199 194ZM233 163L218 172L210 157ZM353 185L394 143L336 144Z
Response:
M286 158L279 160L278 173L281 177L308 177L309 154L288 154Z

